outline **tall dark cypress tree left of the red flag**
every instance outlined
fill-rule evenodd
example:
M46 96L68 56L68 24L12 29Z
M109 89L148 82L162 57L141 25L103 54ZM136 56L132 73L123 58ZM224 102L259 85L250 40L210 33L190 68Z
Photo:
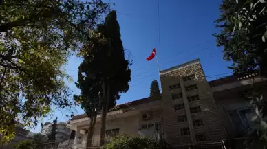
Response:
M131 80L129 61L125 60L125 52L120 39L120 26L115 11L111 11L105 18L105 23L98 26L97 38L91 39L85 45L84 62L80 68L87 67L87 76L96 79L101 84L100 91L102 108L100 144L105 143L105 119L108 108L116 104L120 93L129 89Z

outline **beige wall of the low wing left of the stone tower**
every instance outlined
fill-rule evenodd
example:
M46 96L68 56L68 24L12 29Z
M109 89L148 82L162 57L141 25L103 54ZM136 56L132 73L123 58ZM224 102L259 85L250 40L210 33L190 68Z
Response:
M158 100L140 104L138 106L131 106L131 108L125 108L122 111L122 113L116 113L114 115L109 113L107 114L106 132L109 130L119 129L118 135L156 137L156 124L162 124L162 112L159 97ZM143 115L147 114L149 114L150 118L143 119ZM87 122L89 124L89 121ZM144 128L145 125L147 128ZM87 124L83 124L78 127L80 127L79 130L85 130L88 128ZM93 146L100 145L100 127L100 117L98 117L92 139ZM106 136L106 138L110 139L108 136ZM77 141L77 143L85 145L86 142L87 134L85 133L82 135L81 140Z

